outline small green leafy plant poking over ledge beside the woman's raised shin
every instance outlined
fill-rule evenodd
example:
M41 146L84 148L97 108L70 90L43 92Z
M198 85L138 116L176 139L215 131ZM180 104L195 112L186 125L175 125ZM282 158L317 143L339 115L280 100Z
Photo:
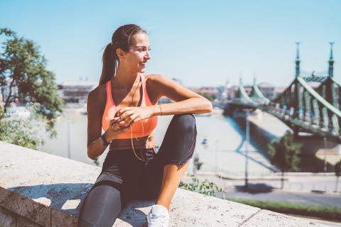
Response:
M207 196L215 196L217 192L224 191L224 189L218 187L217 184L209 182L207 179L200 182L195 176L192 176L192 182L190 183L180 182L179 187L188 191L199 192L200 194L205 194Z

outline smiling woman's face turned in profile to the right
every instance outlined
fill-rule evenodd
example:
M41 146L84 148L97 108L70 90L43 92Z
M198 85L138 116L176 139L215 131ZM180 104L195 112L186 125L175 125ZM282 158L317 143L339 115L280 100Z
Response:
M146 63L151 59L149 50L149 37L146 33L137 33L131 38L130 49L124 53L124 59L132 71L145 72Z

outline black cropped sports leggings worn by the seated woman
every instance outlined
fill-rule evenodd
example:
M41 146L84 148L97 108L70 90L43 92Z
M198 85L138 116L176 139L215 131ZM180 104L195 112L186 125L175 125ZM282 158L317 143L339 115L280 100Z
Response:
M110 151L102 172L87 194L78 226L112 226L121 208L134 199L156 199L161 187L163 167L182 165L193 156L197 136L191 114L175 115L169 124L160 149Z

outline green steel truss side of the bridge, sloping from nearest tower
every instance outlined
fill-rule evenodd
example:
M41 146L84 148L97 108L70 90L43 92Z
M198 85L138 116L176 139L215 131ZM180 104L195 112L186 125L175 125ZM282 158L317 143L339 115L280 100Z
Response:
M263 108L304 131L340 138L341 112L323 99L303 78Z

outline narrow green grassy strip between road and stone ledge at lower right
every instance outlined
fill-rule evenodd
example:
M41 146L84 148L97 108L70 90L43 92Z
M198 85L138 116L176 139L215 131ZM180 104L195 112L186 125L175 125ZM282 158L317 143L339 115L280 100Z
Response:
M341 209L330 206L315 206L311 204L293 204L283 201L259 201L250 199L228 199L241 204L256 206L260 209L275 211L282 214L311 216L328 220L341 221Z

